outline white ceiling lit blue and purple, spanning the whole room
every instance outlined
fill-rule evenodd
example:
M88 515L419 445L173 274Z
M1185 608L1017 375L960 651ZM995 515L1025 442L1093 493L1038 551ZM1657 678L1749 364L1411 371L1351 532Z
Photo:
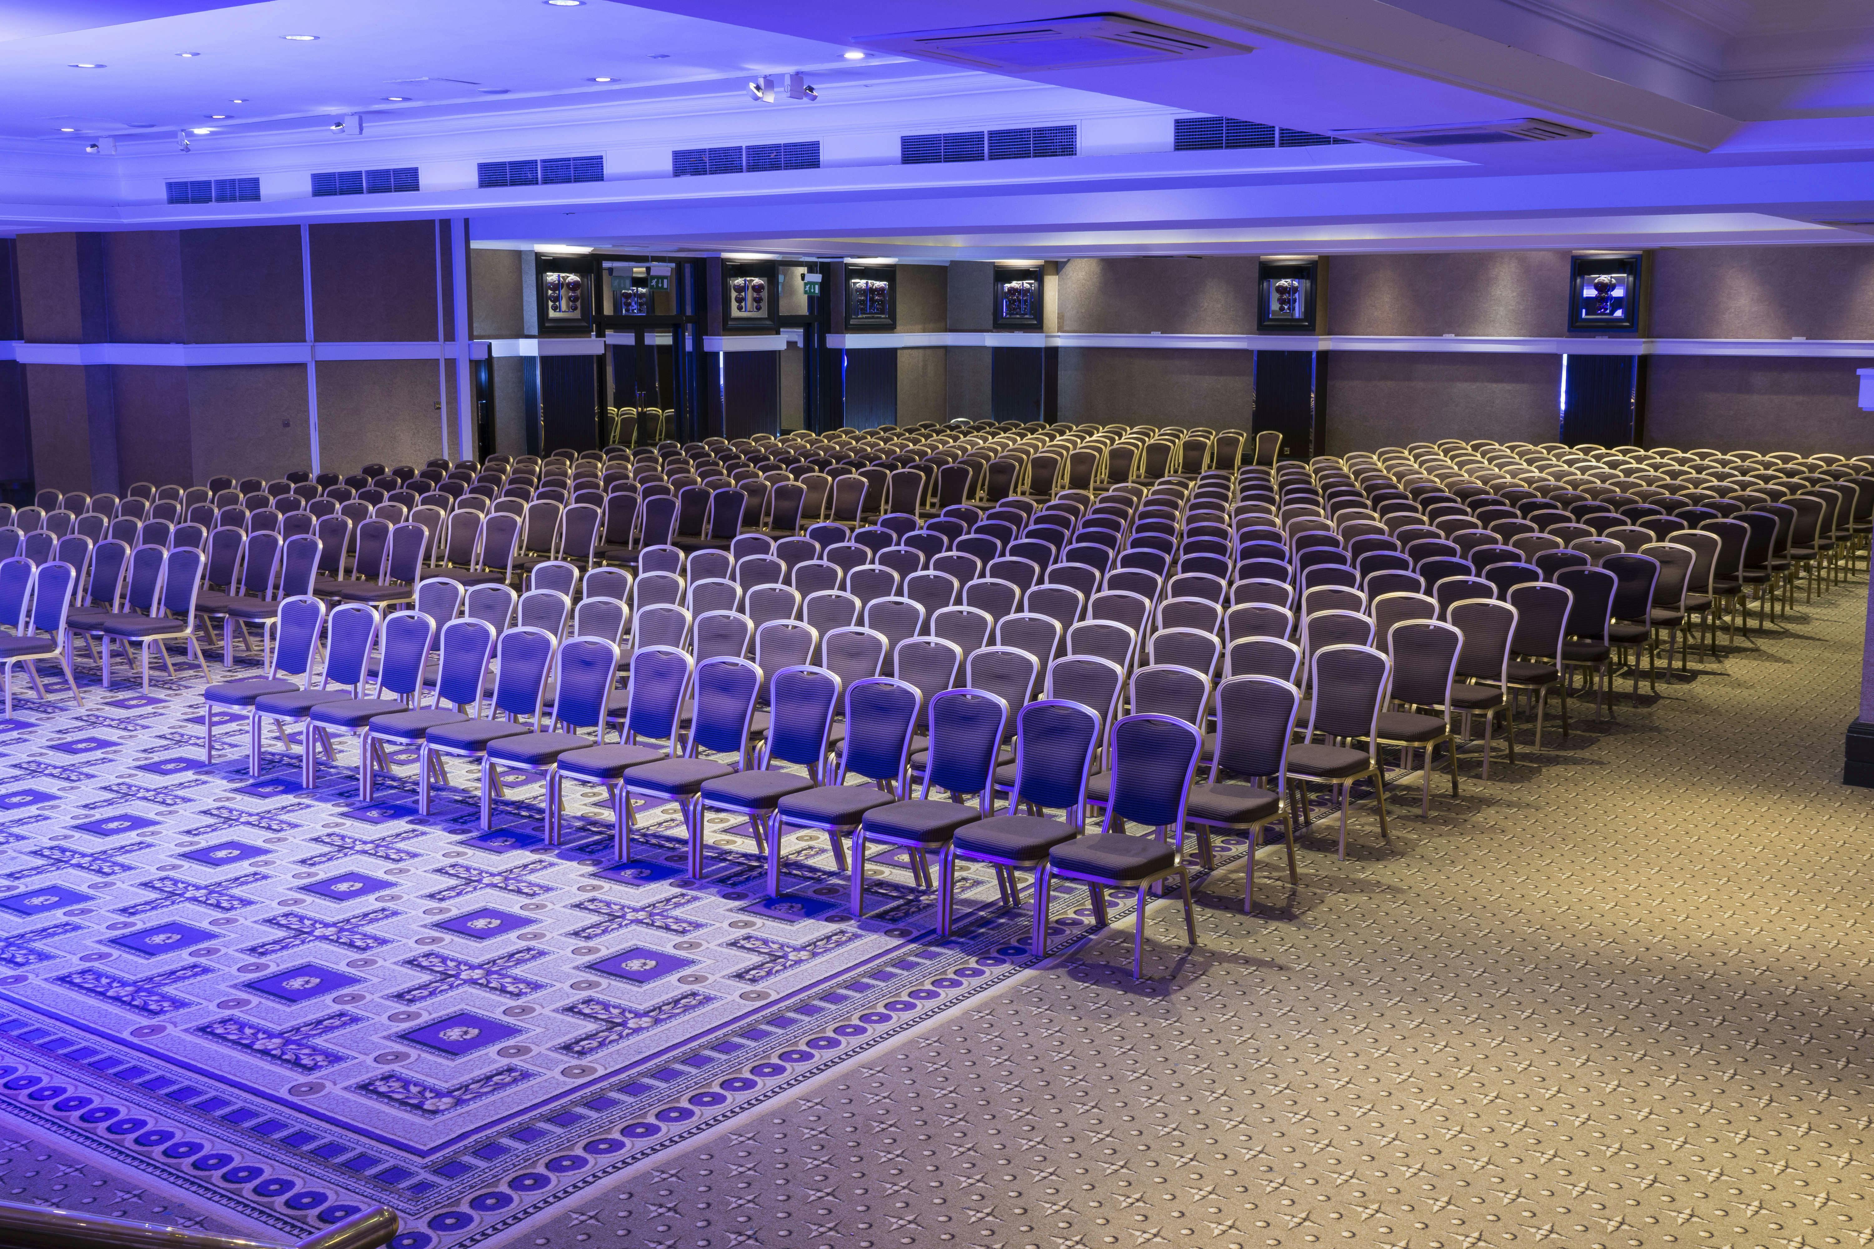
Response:
M450 213L495 245L924 258L1868 240L1827 223L1874 219L1870 0L1134 0L1254 51L1019 77L845 58L868 36L1074 9L0 0L0 230ZM793 69L819 103L746 97ZM354 112L364 137L334 137ZM1190 112L1316 133L1539 116L1593 137L1171 154ZM1040 124L1076 124L1079 155L898 163L905 133ZM184 155L178 129L208 133ZM82 155L92 137L116 155ZM823 169L669 176L673 148L793 139L819 139ZM478 159L575 152L602 152L607 182L476 189ZM424 191L307 198L309 170L384 165L420 165ZM163 204L165 180L221 176L260 176L262 202Z

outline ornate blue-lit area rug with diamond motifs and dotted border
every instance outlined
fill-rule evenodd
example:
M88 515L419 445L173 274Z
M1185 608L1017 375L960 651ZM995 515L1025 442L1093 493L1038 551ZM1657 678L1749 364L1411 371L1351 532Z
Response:
M397 1249L485 1242L1038 961L986 873L937 942L898 850L855 923L821 835L770 903L725 816L692 880L675 809L618 863L596 790L549 848L538 786L489 833L467 790L358 801L341 743L307 792L232 717L202 762L193 670L79 682L0 721L0 1109L287 1236L386 1204ZM1053 951L1089 925L1057 889Z

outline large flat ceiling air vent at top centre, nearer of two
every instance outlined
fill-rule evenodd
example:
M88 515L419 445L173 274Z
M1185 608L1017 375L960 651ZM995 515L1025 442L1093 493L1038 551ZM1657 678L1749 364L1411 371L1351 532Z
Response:
M1094 66L1139 66L1158 60L1197 60L1203 56L1242 56L1252 49L1227 39L1139 22L1119 13L1063 17L1006 26L956 26L950 30L905 30L855 39L864 49L941 60L969 69L1003 73L1040 73L1046 69L1091 69Z

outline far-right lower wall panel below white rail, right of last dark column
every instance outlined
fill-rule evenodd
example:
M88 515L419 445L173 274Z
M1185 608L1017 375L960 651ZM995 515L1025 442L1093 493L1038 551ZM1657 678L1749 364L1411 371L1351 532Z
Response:
M1874 414L1855 406L1855 369L1874 369L1874 360L1653 356L1645 442L1867 455L1874 451Z

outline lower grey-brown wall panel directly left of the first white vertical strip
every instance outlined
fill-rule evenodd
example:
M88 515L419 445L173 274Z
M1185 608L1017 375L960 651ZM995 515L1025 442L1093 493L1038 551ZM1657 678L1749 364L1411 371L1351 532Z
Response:
M313 466L305 365L221 365L172 373L186 373L189 382L191 483L216 474L274 481L294 468ZM319 397L324 408L324 375Z

